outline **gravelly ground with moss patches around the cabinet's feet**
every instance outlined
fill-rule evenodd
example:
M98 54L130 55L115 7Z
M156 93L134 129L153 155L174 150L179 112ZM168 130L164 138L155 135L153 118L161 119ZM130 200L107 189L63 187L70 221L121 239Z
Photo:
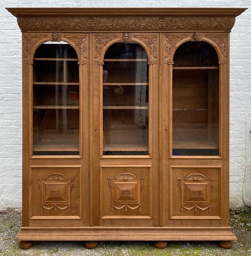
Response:
M83 242L34 242L27 250L18 248L13 238L21 224L19 210L0 211L0 255L251 255L251 209L230 211L230 222L238 241L231 249L222 249L217 242L169 242L157 249L152 242L101 242L95 249L86 249Z

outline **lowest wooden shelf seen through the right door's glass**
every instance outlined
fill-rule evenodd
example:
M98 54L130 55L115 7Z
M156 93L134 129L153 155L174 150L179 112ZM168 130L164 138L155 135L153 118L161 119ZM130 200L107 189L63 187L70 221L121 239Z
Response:
M191 141L191 140L176 140L173 141L173 149L179 150L217 150L219 143L216 141Z

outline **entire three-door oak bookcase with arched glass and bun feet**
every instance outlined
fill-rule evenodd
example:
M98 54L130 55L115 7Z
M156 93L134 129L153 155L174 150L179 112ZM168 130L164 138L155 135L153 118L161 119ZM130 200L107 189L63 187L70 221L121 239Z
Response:
M21 248L216 240L229 226L241 8L8 8L22 31Z

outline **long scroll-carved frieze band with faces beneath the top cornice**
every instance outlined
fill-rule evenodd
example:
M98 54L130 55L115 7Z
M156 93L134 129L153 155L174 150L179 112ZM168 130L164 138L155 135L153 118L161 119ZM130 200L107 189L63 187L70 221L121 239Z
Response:
M18 17L22 31L230 31L235 17L212 16L35 16Z

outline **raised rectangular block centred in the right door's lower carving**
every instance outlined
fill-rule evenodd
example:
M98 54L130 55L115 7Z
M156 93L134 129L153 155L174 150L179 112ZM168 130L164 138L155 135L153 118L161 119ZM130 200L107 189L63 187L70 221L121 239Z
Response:
M210 181L181 182L181 201L183 205L210 204Z

